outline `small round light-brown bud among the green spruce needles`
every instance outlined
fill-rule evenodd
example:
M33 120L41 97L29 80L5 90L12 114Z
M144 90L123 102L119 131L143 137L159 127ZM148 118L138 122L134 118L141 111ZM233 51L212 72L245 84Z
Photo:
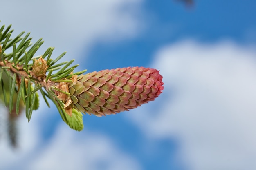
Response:
M45 77L47 68L48 66L46 60L40 57L39 59L35 59L35 62L32 66L32 72L38 77Z

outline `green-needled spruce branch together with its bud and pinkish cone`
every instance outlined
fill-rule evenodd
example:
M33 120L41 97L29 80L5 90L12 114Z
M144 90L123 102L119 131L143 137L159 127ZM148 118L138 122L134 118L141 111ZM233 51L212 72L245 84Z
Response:
M43 44L39 39L32 45L29 33L11 39L11 25L0 28L0 99L9 112L25 115L30 121L33 110L39 107L41 93L47 106L50 99L61 118L74 130L83 129L83 114L96 116L116 114L153 101L162 93L163 82L153 68L127 67L99 72L73 73L78 65L74 60L57 63L65 52L52 59L53 47L41 56L34 56ZM11 49L6 53L7 49Z

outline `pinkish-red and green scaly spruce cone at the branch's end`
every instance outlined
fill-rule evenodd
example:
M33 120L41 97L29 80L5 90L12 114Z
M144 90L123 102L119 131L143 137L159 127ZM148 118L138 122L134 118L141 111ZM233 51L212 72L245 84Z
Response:
M162 75L153 68L94 71L80 75L69 85L72 102L65 109L75 108L99 117L119 113L153 101L162 93L163 84Z

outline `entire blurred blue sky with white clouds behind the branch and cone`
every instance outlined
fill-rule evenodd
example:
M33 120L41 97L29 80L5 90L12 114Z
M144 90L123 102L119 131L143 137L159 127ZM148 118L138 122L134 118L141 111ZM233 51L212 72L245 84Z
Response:
M3 170L255 170L256 1L9 0L1 25L76 59L76 71L160 70L154 101L70 129L41 99L27 123L0 116ZM0 108L4 113L5 108Z

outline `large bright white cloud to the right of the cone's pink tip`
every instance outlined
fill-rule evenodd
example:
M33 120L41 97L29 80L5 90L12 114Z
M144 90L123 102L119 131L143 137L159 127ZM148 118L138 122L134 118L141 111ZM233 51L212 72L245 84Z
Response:
M164 77L162 95L127 116L152 139L176 137L190 170L253 170L255 56L227 41L166 46L152 66Z

